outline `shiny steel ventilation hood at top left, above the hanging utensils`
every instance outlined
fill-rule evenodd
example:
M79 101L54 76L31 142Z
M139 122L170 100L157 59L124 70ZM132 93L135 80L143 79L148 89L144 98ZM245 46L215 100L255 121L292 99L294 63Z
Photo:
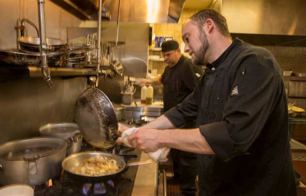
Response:
M99 0L51 0L81 20L97 20ZM185 0L121 1L120 22L177 23ZM117 21L119 0L103 0L102 20Z

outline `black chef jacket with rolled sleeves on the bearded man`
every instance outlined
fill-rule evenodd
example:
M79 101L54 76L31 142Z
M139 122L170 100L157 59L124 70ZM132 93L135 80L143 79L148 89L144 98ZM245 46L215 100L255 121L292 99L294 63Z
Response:
M215 155L197 154L199 195L297 195L282 73L268 50L235 39L165 116L197 127Z

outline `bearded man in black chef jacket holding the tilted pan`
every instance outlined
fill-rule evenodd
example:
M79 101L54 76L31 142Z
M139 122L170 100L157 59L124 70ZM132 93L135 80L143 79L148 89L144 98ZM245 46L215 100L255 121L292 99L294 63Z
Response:
M209 9L185 22L182 38L193 63L210 70L182 103L132 133L129 143L145 152L197 153L199 195L297 195L286 94L273 55L232 40L225 18ZM178 129L185 117L197 119L197 128Z

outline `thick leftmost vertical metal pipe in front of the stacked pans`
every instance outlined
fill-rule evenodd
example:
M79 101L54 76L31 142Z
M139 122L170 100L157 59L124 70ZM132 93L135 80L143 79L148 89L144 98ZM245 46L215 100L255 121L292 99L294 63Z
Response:
M38 5L38 23L39 23L39 39L40 39L40 66L42 69L42 76L46 80L49 88L52 88L52 79L48 69L47 63L47 41L46 41L46 28L45 28L45 7L44 0L37 0Z

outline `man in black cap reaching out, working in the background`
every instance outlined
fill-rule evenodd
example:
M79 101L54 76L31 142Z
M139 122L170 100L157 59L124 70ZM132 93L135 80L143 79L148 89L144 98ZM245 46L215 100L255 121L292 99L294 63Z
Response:
M179 44L176 41L165 41L161 45L162 55L168 66L164 73L155 79L136 79L135 84L163 85L164 112L181 103L198 84L203 71L199 66L192 64L191 59L180 53ZM185 128L194 128L195 121L190 121ZM171 149L174 177L172 182L178 182L180 190L185 195L194 195L196 192L195 177L196 155L195 153Z

